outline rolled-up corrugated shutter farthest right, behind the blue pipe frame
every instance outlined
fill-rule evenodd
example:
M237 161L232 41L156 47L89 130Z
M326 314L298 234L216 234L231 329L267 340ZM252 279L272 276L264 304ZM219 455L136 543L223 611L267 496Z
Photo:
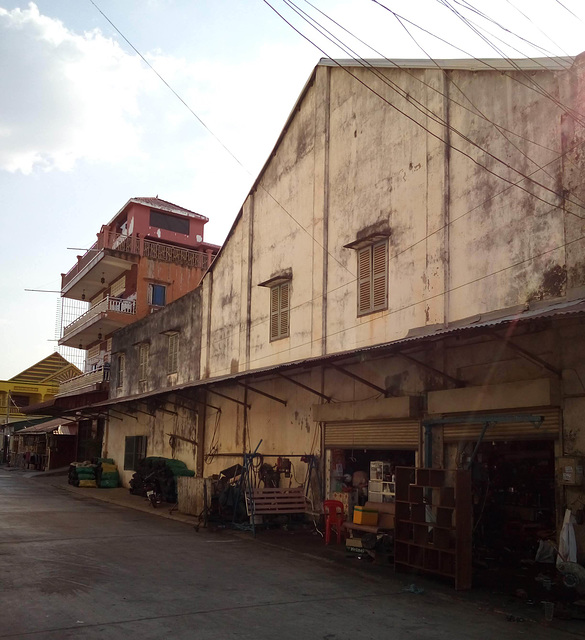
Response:
M557 407L544 409L519 409L518 411L502 411L501 413L525 413L543 416L544 421L539 428L529 422L502 422L488 427L485 438L491 441L503 440L550 440L558 437L561 416ZM443 428L445 442L459 442L460 440L477 440L481 434L483 424L446 424Z

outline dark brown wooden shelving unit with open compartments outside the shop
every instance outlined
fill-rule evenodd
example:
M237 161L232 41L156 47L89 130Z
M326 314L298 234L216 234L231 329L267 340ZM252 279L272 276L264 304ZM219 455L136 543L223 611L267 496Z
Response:
M471 587L471 473L398 467L396 569L428 571Z

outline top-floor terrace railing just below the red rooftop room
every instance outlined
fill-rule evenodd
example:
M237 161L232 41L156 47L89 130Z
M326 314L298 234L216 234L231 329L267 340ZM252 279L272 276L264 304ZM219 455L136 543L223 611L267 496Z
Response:
M183 249L163 242L155 242L137 235L126 235L110 231L100 231L98 239L82 256L78 256L77 263L62 276L61 288L67 286L81 273L104 249L111 249L130 255L144 256L161 262L172 262L187 267L199 268L205 271L211 264L211 252Z

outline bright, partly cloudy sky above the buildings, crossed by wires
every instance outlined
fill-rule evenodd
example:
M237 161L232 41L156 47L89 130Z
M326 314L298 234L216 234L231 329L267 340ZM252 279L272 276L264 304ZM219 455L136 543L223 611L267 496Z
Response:
M0 0L0 379L57 349L60 274L130 198L223 242L319 58L354 55L295 6L364 58L585 51L582 0Z

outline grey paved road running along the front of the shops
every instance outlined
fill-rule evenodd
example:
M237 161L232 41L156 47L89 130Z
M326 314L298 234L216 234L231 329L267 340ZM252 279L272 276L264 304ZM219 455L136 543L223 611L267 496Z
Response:
M403 583L0 470L0 639L577 637Z

